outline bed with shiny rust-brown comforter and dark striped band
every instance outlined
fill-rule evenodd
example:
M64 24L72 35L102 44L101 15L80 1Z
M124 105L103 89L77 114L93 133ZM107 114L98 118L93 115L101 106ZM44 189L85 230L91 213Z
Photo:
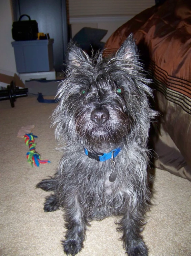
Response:
M160 112L154 165L191 181L191 1L167 0L118 28L105 44L115 53L133 33Z

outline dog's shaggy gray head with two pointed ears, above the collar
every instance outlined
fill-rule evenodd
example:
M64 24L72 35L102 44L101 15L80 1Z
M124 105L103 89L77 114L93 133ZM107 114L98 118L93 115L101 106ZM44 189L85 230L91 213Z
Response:
M153 116L147 83L132 35L108 59L102 53L89 58L70 42L67 77L53 115L57 139L90 150L144 144Z

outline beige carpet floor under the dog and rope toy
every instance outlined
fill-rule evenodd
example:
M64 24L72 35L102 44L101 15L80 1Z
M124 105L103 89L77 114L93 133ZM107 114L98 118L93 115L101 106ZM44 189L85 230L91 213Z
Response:
M19 98L15 108L0 101L0 256L61 256L62 211L45 213L47 192L35 185L54 174L59 153L54 150L50 115L54 104L34 97ZM21 126L35 125L36 150L50 164L31 167L28 147L17 138ZM149 256L191 256L191 182L166 171L155 171L154 205L143 235ZM113 218L92 222L79 256L125 255Z

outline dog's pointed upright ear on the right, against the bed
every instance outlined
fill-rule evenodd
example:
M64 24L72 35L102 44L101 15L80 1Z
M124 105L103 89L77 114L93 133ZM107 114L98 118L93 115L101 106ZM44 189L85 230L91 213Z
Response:
M126 59L129 61L137 61L138 59L138 50L137 45L133 39L133 34L131 33L127 39L123 42L121 47L116 53L116 57L120 59Z

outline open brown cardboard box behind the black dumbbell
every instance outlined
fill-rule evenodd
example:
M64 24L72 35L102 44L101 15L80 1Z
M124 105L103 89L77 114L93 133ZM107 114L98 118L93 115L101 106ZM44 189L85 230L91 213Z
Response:
M11 81L14 81L17 87L25 87L23 81L16 73L0 70L0 87L7 88L7 85L10 85Z

